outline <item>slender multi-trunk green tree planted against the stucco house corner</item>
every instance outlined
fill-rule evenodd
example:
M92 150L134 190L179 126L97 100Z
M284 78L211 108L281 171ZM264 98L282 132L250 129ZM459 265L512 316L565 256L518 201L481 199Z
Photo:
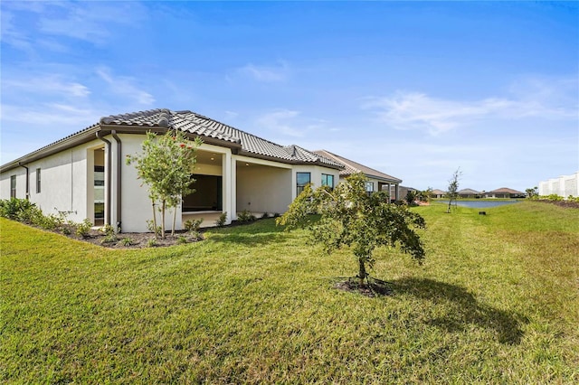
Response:
M195 192L191 188L191 174L195 168L196 150L201 146L201 139L190 141L182 131L170 130L164 136L147 132L147 138L141 146L140 155L127 155L127 164L135 164L138 178L148 186L148 196L153 206L153 227L157 238L157 213L155 207L161 207L161 237L165 238L166 208L173 208L173 227L175 235L176 206L184 195Z

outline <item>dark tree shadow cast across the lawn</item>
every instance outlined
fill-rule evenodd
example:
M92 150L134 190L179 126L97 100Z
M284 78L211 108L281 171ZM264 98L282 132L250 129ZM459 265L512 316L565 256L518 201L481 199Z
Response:
M413 277L398 279L390 284L394 294L409 294L448 309L444 315L428 319L426 324L449 332L463 331L470 324L475 324L498 333L500 343L518 344L523 337L521 324L527 324L527 317L480 304L464 287Z

